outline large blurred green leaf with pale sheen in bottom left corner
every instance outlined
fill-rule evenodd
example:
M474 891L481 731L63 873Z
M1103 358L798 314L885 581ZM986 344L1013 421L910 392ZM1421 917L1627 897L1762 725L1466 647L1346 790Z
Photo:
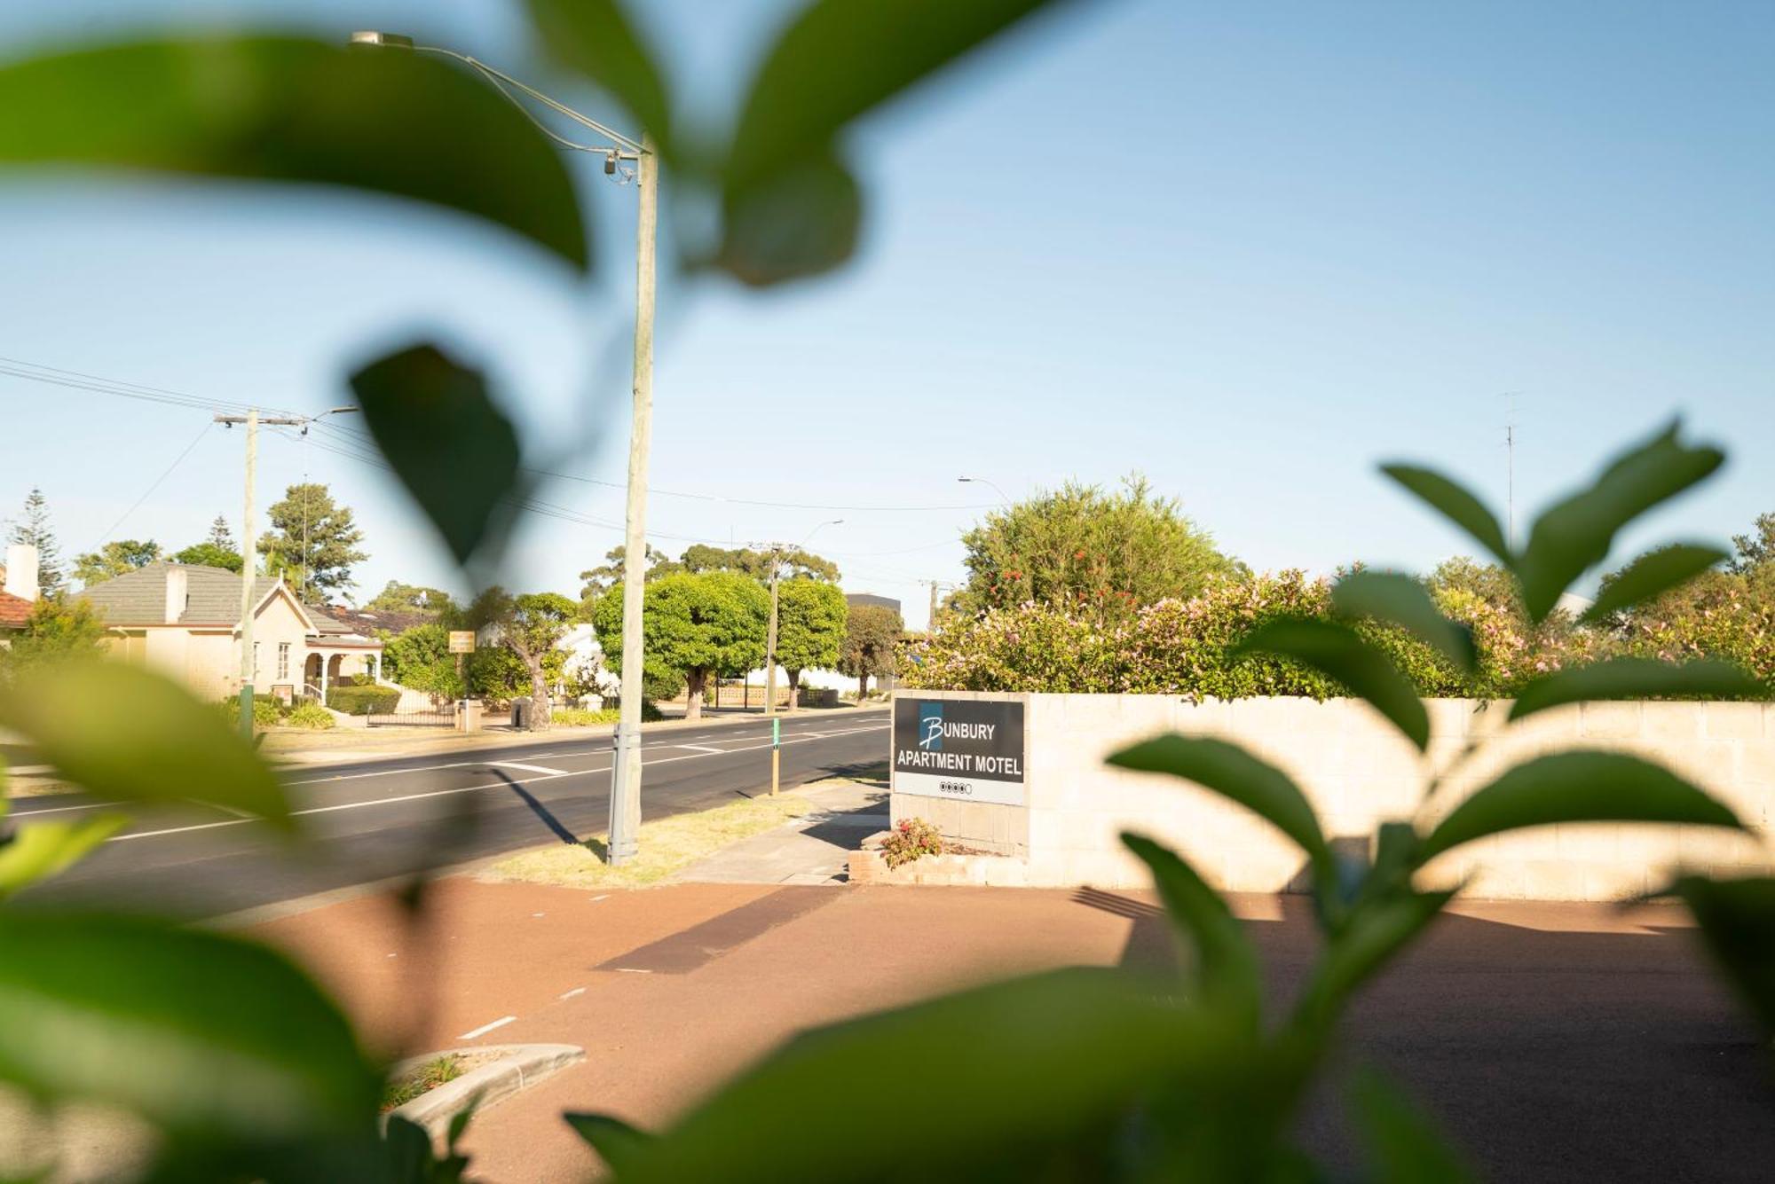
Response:
M206 1141L367 1129L380 1074L264 946L137 916L0 911L0 1079Z

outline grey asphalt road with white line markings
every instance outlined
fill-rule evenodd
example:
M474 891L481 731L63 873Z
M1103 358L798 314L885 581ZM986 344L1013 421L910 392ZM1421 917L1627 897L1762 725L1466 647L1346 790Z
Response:
M20 904L105 900L206 918L320 892L435 870L547 842L577 842L609 822L611 744L586 736L485 752L289 769L309 842L209 806L137 814L130 830ZM799 716L783 723L783 785L888 757L888 714ZM641 814L701 810L770 783L770 725L673 728L643 737ZM66 821L87 798L21 798L11 819Z

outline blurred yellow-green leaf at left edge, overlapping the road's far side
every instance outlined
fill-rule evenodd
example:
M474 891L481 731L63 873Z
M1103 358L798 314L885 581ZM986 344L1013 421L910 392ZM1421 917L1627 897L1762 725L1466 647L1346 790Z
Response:
M0 727L99 798L202 801L295 826L284 787L213 707L121 661L71 661L0 686Z

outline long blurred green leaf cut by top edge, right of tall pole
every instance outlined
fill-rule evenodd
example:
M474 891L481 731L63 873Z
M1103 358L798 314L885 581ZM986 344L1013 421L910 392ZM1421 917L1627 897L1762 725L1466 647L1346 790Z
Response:
M740 112L730 191L824 156L856 117L1053 0L813 0L765 55ZM1058 5L1054 5L1058 7Z

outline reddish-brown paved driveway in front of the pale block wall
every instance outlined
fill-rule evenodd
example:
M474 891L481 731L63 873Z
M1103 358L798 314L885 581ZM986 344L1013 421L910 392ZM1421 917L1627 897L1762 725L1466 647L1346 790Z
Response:
M1306 900L1235 906L1285 998L1317 946ZM660 1126L811 1024L1053 966L1159 966L1170 948L1145 893L731 881L453 877L419 934L367 897L256 932L307 959L385 1048L586 1048L476 1118L474 1168L502 1182L595 1166L563 1110ZM1486 1179L1764 1180L1775 1163L1766 1051L1672 907L1461 906L1358 1001L1345 1063L1358 1056L1404 1079ZM1301 1136L1351 1165L1331 1097Z

